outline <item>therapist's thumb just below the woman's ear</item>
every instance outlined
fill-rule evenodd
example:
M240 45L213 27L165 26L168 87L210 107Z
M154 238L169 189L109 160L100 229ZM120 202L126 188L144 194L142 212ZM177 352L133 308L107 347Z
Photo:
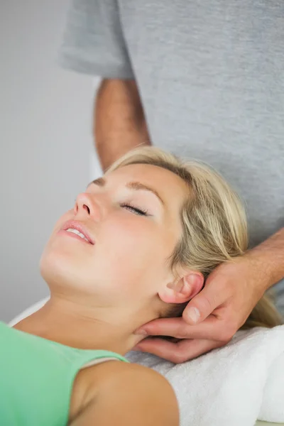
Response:
M212 312L226 301L223 292L219 292L211 283L198 293L187 304L182 317L187 324L197 324L204 321Z

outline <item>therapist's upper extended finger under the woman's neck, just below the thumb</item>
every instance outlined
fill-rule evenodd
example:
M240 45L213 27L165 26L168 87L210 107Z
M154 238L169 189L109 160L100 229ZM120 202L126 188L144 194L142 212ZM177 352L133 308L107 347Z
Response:
M231 337L228 324L214 315L209 315L206 320L197 325L189 325L181 317L160 318L148 322L141 329L148 336L171 336L177 339L213 339L228 342ZM139 329L136 333L139 334Z

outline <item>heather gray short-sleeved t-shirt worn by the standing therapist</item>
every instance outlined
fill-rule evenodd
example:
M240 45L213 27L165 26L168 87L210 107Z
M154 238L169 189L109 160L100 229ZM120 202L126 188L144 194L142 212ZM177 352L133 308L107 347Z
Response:
M135 78L153 145L206 161L251 246L284 226L284 2L73 0L60 63Z

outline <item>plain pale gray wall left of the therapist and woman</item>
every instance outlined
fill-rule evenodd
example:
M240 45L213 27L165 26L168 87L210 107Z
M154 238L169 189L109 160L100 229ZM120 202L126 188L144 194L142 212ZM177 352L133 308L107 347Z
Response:
M67 3L0 1L2 321L48 295L43 246L96 174L94 80L56 63Z

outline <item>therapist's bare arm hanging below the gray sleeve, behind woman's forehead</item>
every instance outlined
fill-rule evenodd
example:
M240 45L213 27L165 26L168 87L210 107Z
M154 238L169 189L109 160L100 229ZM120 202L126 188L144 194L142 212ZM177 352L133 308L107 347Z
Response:
M102 80L94 103L94 143L105 171L138 145L151 145L135 80Z

